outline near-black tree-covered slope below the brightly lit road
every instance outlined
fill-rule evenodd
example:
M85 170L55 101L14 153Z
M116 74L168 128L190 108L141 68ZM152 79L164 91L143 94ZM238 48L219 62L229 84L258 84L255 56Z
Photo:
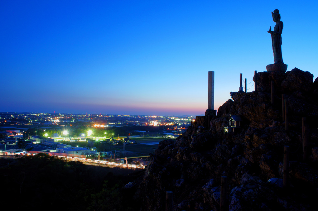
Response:
M134 183L144 171L87 166L47 154L0 168L3 210L139 210ZM132 186L132 187L131 187ZM127 188L129 187L129 188ZM5 209L9 208L9 209Z

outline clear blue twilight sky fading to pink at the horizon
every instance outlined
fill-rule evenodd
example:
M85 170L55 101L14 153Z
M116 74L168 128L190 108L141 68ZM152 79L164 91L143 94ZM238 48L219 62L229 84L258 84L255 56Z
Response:
M0 1L0 111L199 115L273 64L318 77L316 1ZM253 82L247 85L253 91Z

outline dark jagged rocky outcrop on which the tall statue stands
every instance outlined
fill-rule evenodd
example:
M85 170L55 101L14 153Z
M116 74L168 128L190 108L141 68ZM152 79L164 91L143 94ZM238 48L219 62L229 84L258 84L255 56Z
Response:
M139 186L142 210L164 210L165 192L174 192L174 210L218 210L220 178L228 180L230 210L316 210L318 79L297 68L259 72L258 92L234 92L211 118L196 122L176 141L160 142ZM275 98L271 104L271 82ZM281 96L288 102L288 130ZM243 126L225 133L231 115ZM303 160L301 118L310 128ZM290 186L282 188L283 147L290 146Z

